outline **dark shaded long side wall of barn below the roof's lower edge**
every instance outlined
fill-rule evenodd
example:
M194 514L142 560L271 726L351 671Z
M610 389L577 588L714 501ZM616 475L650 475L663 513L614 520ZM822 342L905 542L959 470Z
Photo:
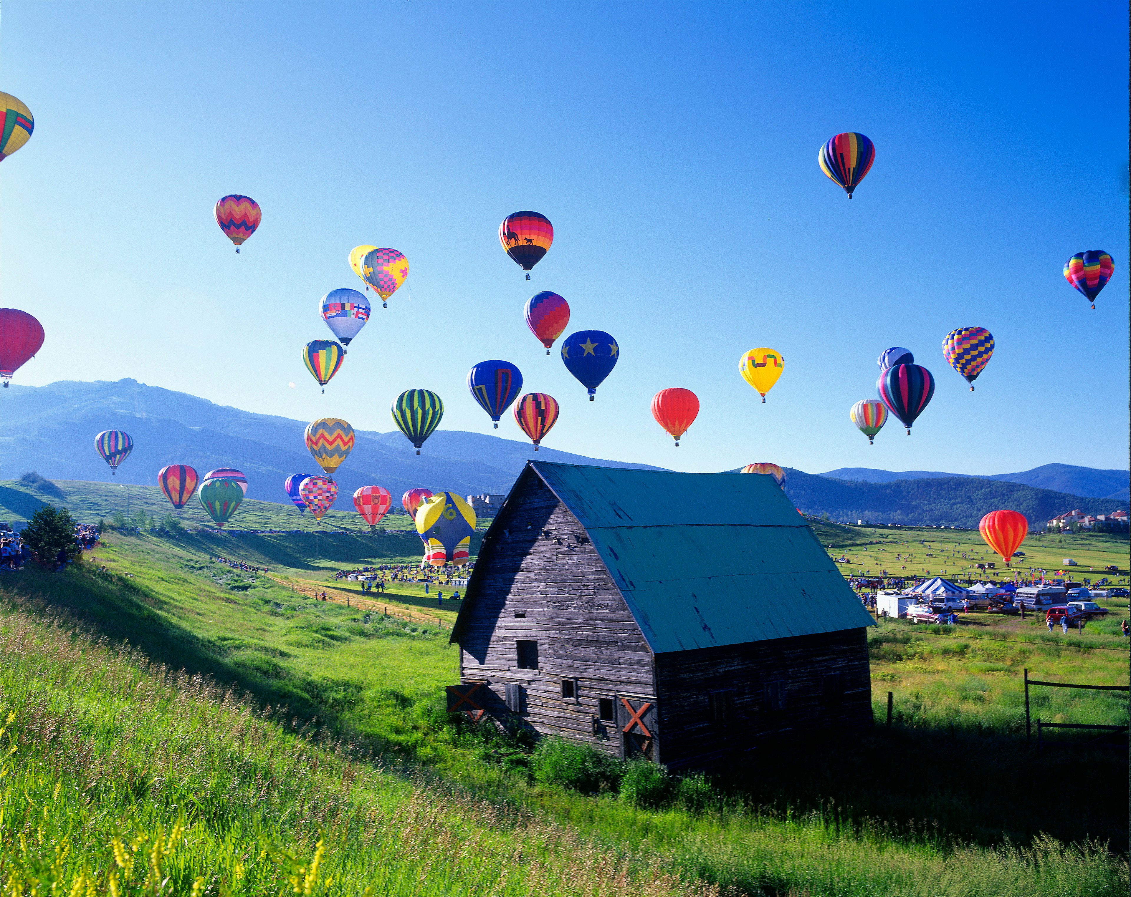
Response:
M780 683L779 709L772 683ZM676 768L717 762L767 738L872 722L863 629L661 654L656 688L659 761ZM714 722L709 695L728 689L731 719Z

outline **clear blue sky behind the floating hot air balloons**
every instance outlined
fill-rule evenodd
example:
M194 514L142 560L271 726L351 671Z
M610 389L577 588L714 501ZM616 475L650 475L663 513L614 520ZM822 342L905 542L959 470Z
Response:
M0 165L0 303L48 333L17 382L382 431L423 387L442 428L523 439L465 385L506 359L562 405L546 445L596 457L1126 466L1125 5L7 0L0 28L36 119ZM817 165L845 130L877 147L851 201ZM239 256L230 192L264 209ZM529 283L497 238L527 208L555 228ZM300 348L359 243L412 273L323 396ZM1086 249L1115 259L1096 311L1061 275ZM616 337L596 402L526 329L538 290ZM973 394L940 350L960 326L998 343ZM848 408L890 345L936 391L870 447ZM765 405L754 346L785 357ZM702 407L679 449L649 412L671 386Z

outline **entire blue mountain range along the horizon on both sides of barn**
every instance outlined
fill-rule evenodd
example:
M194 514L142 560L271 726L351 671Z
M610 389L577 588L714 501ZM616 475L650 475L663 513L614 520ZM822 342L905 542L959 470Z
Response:
M136 380L61 381L0 389L0 480L36 471L51 480L156 485L166 464L191 464L201 474L238 467L248 476L248 498L287 504L283 481L319 473L303 445L304 421L254 414ZM101 430L126 430L135 448L110 477L94 450ZM564 464L659 469L590 458L495 435L438 430L415 455L399 432L355 431L348 460L335 473L335 508L353 511L351 497L380 483L396 500L414 486L459 494L506 493L528 458ZM1122 491L1121 491L1122 490ZM931 471L893 473L843 467L826 474L789 469L786 492L794 504L835 520L909 525L976 526L998 508L1013 508L1043 524L1079 508L1103 514L1126 508L1128 473L1048 464L1018 474L976 477Z

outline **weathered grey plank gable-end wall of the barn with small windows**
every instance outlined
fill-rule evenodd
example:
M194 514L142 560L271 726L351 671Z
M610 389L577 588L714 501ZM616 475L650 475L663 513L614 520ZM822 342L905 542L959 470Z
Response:
M585 529L529 468L484 543L474 586L460 678L487 682L487 711L507 716L504 685L518 683L527 725L620 754L614 724L593 734L597 701L655 696L653 656ZM537 670L518 669L518 640L537 641ZM577 681L576 701L562 698L562 679Z

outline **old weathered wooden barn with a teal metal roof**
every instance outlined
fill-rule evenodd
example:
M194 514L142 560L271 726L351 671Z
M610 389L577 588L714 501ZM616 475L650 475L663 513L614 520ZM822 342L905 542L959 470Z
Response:
M871 724L871 624L769 476L529 462L467 585L448 707L709 766Z

